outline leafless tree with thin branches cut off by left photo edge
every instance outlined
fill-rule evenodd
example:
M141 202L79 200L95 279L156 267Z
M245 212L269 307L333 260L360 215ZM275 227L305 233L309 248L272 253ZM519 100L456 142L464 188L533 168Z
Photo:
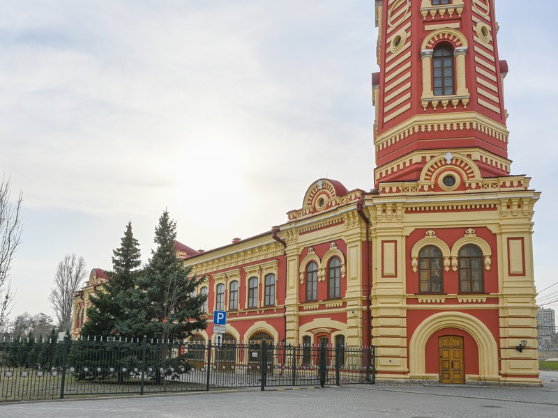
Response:
M15 249L22 241L21 207L23 194L10 203L10 178L2 176L0 183L0 329L10 314L15 291L10 268Z

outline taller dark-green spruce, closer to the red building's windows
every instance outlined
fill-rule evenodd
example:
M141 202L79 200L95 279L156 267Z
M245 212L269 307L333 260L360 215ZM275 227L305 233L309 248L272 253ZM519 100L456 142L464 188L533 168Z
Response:
M139 289L147 303L144 323L145 335L153 339L185 339L194 330L205 329L202 305L206 295L195 295L202 278L188 277L191 267L186 267L174 249L176 222L169 219L165 210L155 229L157 247L151 251L144 275L138 281Z

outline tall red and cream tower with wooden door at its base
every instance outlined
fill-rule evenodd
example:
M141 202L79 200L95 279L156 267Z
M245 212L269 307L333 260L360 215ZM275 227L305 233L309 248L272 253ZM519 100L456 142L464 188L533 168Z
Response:
M376 21L378 376L537 384L538 193L510 174L495 1L376 1Z

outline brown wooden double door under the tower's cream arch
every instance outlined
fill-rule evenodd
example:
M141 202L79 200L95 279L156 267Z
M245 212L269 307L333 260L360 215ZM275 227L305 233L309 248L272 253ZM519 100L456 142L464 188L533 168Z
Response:
M440 336L440 383L460 385L465 383L465 361L462 336Z

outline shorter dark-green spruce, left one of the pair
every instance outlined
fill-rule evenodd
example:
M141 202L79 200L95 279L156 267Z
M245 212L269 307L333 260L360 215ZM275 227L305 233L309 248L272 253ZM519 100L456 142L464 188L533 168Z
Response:
M128 327L135 323L142 295L137 290L141 253L139 243L132 233L132 222L128 222L121 246L112 251L112 272L107 272L109 280L103 289L91 295L91 306L87 308L88 321L82 326L82 336L137 336L142 332Z

